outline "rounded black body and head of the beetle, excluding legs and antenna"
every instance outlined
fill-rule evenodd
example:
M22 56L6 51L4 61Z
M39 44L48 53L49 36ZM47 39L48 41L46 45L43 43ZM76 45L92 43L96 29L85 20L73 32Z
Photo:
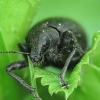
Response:
M85 50L87 47L86 34L76 22L66 18L53 18L36 24L26 37L30 58L33 62L36 62L36 59L43 63L65 63L76 45L72 36L69 35L70 31ZM79 60L79 56L79 53L76 53L74 58L78 59L75 60Z

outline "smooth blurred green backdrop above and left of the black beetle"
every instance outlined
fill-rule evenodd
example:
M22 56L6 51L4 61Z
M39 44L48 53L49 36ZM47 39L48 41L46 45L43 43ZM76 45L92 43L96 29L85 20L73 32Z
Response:
M100 0L1 0L0 13L0 32L7 50L17 50L17 43L24 42L29 28L48 17L68 17L78 22L86 31L89 45L94 32L100 31ZM5 48L0 45L0 50ZM23 57L9 55L7 63L3 57L0 55L0 100L22 100L29 94L6 74L5 66ZM27 70L18 74L28 77Z

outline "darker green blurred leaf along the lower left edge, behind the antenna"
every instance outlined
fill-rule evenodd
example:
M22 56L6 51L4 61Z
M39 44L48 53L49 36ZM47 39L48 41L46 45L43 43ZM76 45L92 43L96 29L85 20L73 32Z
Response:
M0 33L0 51L6 51L4 41ZM9 64L7 54L0 54L0 100L18 100L19 97L16 85L12 78L8 75L5 67ZM10 90L10 91L9 91ZM14 92L13 92L14 91ZM13 96L12 96L13 95Z

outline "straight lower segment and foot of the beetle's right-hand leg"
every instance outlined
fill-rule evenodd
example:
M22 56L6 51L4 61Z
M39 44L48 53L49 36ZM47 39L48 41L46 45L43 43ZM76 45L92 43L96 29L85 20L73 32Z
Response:
M67 58L67 60L66 60L66 62L65 62L65 65L64 65L64 67L63 67L63 69L62 69L62 71L61 71L61 73L60 73L60 75L59 75L59 77L60 77L60 82L61 82L62 87L65 86L65 87L68 88L68 84L64 81L64 76L65 76L65 74L66 74L66 71L67 71L67 68L68 68L68 66L69 66L69 63L71 62L71 60L72 60L74 54L76 53L76 49L77 49L77 48L74 48L73 51L72 51L72 52L70 53L70 55L68 56L68 58Z

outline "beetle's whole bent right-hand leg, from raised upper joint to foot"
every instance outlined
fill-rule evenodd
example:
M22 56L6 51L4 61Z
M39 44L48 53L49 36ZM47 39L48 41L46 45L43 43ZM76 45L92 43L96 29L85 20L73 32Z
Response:
M66 86L68 88L68 84L64 81L64 76L66 74L66 71L67 71L67 68L69 66L69 63L71 62L71 60L73 59L73 56L74 54L76 53L76 51L79 53L80 57L83 56L84 54L84 51L83 49L81 48L80 44L78 43L76 37L73 35L74 33L72 31L65 31L64 32L67 36L69 35L72 40L74 42L74 45L73 45L73 50L72 52L70 53L70 55L68 56L66 62L65 62L65 65L59 75L60 79L61 79L61 84L62 86Z

